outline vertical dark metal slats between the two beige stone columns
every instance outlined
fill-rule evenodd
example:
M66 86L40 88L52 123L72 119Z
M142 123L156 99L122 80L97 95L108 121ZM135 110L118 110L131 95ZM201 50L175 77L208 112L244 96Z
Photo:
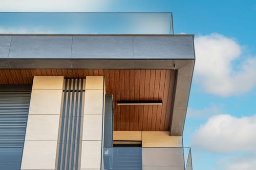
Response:
M85 79L65 79L57 170L79 170Z

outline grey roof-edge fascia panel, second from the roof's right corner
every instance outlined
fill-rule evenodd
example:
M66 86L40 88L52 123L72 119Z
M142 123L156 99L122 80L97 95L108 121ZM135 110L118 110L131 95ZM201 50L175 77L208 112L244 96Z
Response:
M132 58L132 36L74 36L72 58Z

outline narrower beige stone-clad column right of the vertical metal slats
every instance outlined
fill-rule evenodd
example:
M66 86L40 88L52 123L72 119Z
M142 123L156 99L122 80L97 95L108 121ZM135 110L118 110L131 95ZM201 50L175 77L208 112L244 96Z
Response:
M100 170L104 112L104 77L86 76L81 170Z

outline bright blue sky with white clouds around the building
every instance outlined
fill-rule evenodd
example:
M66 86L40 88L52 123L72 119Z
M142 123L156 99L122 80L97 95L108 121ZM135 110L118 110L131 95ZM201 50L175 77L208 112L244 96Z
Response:
M174 34L195 34L184 129L194 170L255 170L255 0L0 0L1 12L172 12ZM6 31L4 21L0 32ZM8 30L7 30L8 31Z

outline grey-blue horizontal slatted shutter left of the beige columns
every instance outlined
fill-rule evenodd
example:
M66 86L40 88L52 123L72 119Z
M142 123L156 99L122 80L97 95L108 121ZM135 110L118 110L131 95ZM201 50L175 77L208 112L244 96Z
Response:
M31 90L0 91L0 170L21 169L30 97Z

